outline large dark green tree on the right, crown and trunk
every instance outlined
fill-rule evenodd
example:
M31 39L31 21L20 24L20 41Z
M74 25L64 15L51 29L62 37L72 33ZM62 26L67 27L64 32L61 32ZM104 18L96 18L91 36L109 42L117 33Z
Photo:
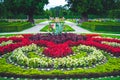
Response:
M99 14L115 8L119 0L66 0L70 10L80 13L82 21L88 20L88 14Z

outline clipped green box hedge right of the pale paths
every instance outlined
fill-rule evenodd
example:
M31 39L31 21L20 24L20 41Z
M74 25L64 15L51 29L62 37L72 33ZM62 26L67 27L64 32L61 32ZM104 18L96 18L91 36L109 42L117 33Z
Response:
M119 22L84 22L80 26L90 31L120 32Z

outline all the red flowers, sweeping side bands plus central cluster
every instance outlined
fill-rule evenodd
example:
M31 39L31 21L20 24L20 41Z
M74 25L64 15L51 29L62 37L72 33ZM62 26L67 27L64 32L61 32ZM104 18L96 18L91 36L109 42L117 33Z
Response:
M78 46L80 44L87 45L87 46L94 46L98 49L107 51L112 53L114 56L120 56L120 47L113 47L107 44L101 44L102 41L108 41L108 42L117 42L120 43L120 40L118 39L111 39L111 38L94 38L94 36L99 36L98 34L87 34L87 40L81 39L81 37L72 37L73 34L67 35L67 39L65 38L65 34L63 34L64 39L62 36L59 36L60 38L57 38L57 40L54 38L51 41L48 41L48 38L46 36L40 37L40 40L36 37L34 40L30 40L29 37L31 37L31 34L25 34L23 37L10 37L10 38L0 38L0 43L3 41L12 40L12 44L8 44L6 46L0 46L0 54L5 54L8 52L13 51L14 49L26 45L30 45L32 43L35 43L39 46L44 46L46 49L44 50L44 54L50 57L64 57L69 54L72 54L72 50L70 47L72 46ZM39 37L39 35L38 35ZM54 36L53 36L54 37ZM45 40L44 40L44 39ZM78 39L79 38L79 39ZM37 40L38 39L38 40ZM43 40L42 40L43 39ZM61 41L61 40L63 41ZM53 42L54 41L54 42Z

